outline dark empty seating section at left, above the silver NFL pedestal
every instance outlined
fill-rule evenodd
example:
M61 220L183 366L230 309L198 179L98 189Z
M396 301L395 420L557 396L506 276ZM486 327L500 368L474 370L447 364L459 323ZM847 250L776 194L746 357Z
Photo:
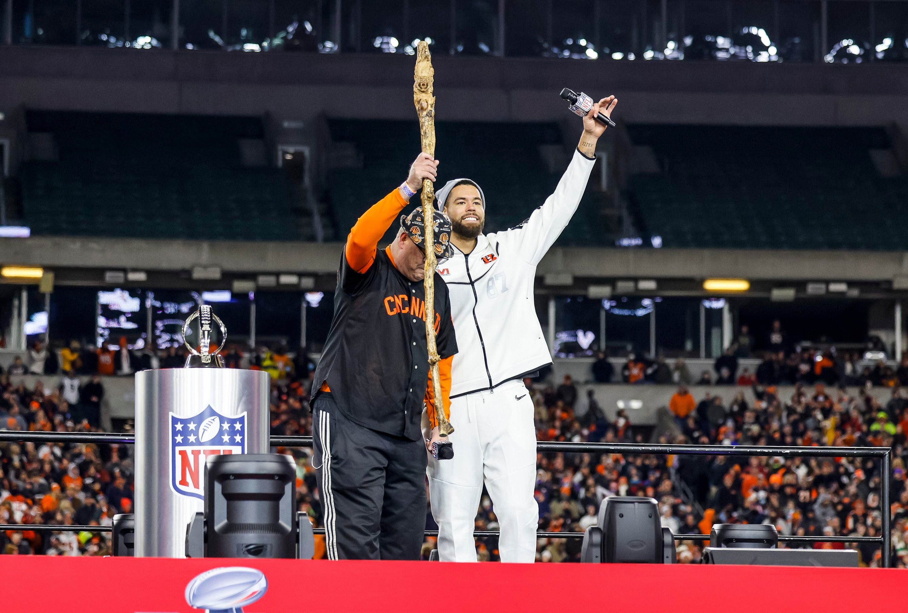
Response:
M37 235L292 241L280 171L241 164L246 117L29 112L59 161L22 169L25 222Z

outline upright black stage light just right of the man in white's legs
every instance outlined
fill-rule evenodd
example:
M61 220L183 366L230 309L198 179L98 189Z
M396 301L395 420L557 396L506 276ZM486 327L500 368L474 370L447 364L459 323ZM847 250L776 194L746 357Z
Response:
M612 496L602 501L597 525L587 529L580 559L662 564L666 555L670 555L665 542L655 499ZM671 539L672 549L674 546L675 541Z

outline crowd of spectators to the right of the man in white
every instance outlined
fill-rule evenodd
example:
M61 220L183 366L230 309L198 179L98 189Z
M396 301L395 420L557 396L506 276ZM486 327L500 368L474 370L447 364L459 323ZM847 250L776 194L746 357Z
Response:
M893 555L908 566L908 489L905 488L905 433L908 400L899 391L886 404L864 390L827 391L823 382L795 385L790 398L775 386L755 385L755 400L737 391L725 404L706 393L697 401L679 386L655 431L634 427L624 410L607 415L592 391L577 402L570 381L537 386L538 440L698 443L721 445L893 447L889 500L880 499L879 460L836 458L735 458L540 454L537 499L539 528L583 531L596 521L607 496L649 496L658 500L662 525L676 534L709 534L714 523L767 523L780 535L879 536L883 512L893 520ZM494 509L484 498L477 528L494 526ZM538 560L576 561L574 539L540 539ZM704 543L678 543L680 562L700 559ZM879 566L875 543L815 543L789 547L853 547L861 564ZM488 548L494 547L492 542Z

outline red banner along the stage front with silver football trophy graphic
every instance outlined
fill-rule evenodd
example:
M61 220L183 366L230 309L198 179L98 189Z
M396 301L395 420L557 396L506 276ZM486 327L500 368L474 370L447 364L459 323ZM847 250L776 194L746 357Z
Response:
M187 593L202 573L231 567L248 570L209 573L211 580L196 580ZM203 609L190 607L187 596L198 604L226 594L246 598L245 613L856 613L902 610L908 575L894 569L706 565L3 556L0 577L5 611L192 613Z

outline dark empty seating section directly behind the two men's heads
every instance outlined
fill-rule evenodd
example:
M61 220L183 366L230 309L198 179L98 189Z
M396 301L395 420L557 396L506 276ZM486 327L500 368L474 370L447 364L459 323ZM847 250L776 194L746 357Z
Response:
M330 120L329 128L332 141L354 143L362 160L361 168L329 173L331 207L342 240L371 203L406 178L419 153L419 127L415 121ZM564 170L549 173L538 151L540 145L561 143L557 124L438 122L435 130L440 161L436 187L459 177L479 183L488 200L487 232L527 219L552 193ZM585 197L560 243L596 242L600 226L596 203ZM396 231L392 227L386 239Z

